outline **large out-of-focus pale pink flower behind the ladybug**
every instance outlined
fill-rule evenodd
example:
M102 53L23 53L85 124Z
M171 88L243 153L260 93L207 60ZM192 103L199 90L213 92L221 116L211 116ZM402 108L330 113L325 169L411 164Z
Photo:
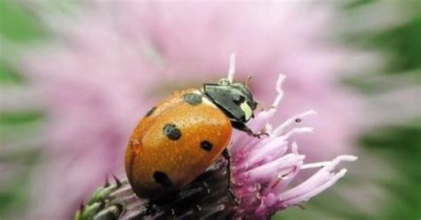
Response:
M263 106L275 75L288 75L275 117L317 109L317 135L300 140L309 161L353 152L360 109L338 85L348 51L322 41L330 5L110 1L72 5L67 16L28 4L54 36L19 64L44 90L51 124L32 215L70 216L108 174L122 172L123 148L147 109L171 90L216 81L232 51L236 78L254 76Z

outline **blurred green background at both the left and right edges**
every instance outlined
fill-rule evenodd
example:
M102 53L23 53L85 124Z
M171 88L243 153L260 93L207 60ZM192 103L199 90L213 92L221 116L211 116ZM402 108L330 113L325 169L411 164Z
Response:
M343 11L340 18L350 20L354 12L369 8L377 1L353 1L339 4ZM398 2L398 1L396 1ZM388 60L382 69L373 72L356 73L344 79L344 84L358 90L368 98L405 86L418 86L421 82L421 1L401 1L401 9L417 12L393 27L381 29L353 29L338 33L338 41L361 49L387 54ZM387 16L387 15L385 15ZM349 24L346 24L349 25ZM0 0L0 86L9 84L27 85L27 81L5 59L13 56L10 45L24 47L34 40L49 37L31 13L13 1ZM7 42L7 43L5 43ZM7 46L6 46L7 44ZM407 79L405 84L394 81L396 76ZM378 79L389 86L378 86ZM376 80L377 79L377 80ZM413 100L420 106L419 90ZM43 128L43 112L0 112L0 145L20 138L36 137ZM23 132L22 132L23 131ZM19 135L16 135L18 134ZM414 115L404 122L389 122L369 128L359 139L361 160L381 161L393 169L396 177L364 173L363 167L357 173L350 173L337 187L322 193L306 203L306 210L289 208L274 219L421 219L421 118ZM36 143L33 143L36 145ZM31 143L22 143L31 145ZM24 152L2 153L0 163L15 166L16 173L0 177L0 219L28 205L28 177L31 165L36 164L37 148L25 147ZM28 150L31 149L31 150ZM29 169L28 169L29 168ZM0 170L1 171L1 170ZM346 200L344 192L352 187L375 185L378 199L370 201L369 207ZM349 193L349 192L348 192ZM363 194L358 200L364 203ZM373 204L376 203L376 204Z

